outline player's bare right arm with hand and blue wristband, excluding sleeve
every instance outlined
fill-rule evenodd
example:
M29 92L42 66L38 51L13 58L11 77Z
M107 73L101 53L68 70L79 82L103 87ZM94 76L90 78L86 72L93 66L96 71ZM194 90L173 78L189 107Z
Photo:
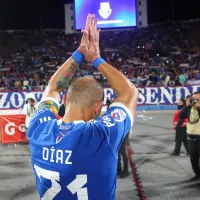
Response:
M118 93L115 102L119 102L129 108L132 115L135 116L138 90L120 71L100 57L99 31L96 28L96 24L90 27L90 42L91 47L88 54L85 55L86 59L93 63L94 67L106 77L111 87Z

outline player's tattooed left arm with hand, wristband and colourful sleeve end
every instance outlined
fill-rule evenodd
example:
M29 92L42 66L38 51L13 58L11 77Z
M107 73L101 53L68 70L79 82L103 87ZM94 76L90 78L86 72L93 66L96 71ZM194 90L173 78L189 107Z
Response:
M58 114L60 92L68 87L68 84L73 77L78 66L82 63L84 56L84 50L89 45L89 38L87 32L89 27L93 23L94 15L88 15L86 20L86 28L83 32L81 44L77 51L55 72L50 79L46 90L43 93L42 100L38 105L37 113L51 112L54 115ZM39 114L39 115L40 115ZM38 114L36 114L38 116Z

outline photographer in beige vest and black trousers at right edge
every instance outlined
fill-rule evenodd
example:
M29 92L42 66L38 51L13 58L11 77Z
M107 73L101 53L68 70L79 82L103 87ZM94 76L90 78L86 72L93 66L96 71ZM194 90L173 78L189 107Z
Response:
M195 176L191 181L200 179L200 92L195 92L191 100L186 101L186 107L180 112L180 119L188 118L187 134L190 151L190 161Z

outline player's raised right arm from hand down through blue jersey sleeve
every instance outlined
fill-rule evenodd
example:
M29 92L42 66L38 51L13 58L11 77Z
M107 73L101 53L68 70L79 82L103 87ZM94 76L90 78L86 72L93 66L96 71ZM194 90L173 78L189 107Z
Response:
M133 125L133 116L136 113L138 101L138 91L136 87L117 69L107 64L99 52L99 30L96 24L90 27L90 48L85 58L92 62L93 66L98 69L107 78L111 87L118 93L117 99L111 104L108 111L96 121L98 133L104 133L116 156L118 149L124 137L130 131Z

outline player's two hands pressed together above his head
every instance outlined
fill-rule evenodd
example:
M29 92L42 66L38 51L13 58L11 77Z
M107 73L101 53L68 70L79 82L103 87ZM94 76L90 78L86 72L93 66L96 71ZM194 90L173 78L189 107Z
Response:
M78 48L78 51L80 51L84 55L85 59L90 63L100 57L100 30L97 29L97 22L98 20L95 18L95 15L89 14L87 16L85 29L81 31L83 37Z

